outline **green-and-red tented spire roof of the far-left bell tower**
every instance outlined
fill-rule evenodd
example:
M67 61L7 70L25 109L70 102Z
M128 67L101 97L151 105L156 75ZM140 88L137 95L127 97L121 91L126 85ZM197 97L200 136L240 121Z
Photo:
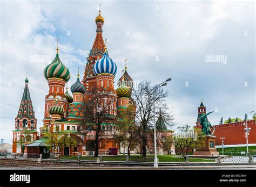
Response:
M18 118L28 118L35 119L35 112L33 111L32 100L29 93L29 80L28 77L25 79L25 88L23 91L23 96L21 104L19 105Z

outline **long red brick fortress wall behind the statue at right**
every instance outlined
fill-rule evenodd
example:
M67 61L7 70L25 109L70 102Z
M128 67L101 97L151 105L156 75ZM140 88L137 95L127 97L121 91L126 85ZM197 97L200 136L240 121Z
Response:
M248 136L248 143L256 143L256 120L248 120L248 127L251 127L250 134ZM246 144L245 138L245 126L244 121L223 124L223 125L214 125L215 132L213 135L217 137L216 145L221 145L220 137L225 137L225 145L237 145L237 144ZM195 126L195 128L201 128L201 126Z

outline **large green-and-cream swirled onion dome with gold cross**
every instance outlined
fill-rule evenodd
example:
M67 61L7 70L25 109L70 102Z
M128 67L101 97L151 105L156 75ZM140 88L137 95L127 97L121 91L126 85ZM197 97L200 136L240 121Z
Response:
M55 59L44 68L44 77L46 80L49 78L62 78L66 82L70 79L69 69L63 65L62 61L59 59L59 45L57 45L57 54Z

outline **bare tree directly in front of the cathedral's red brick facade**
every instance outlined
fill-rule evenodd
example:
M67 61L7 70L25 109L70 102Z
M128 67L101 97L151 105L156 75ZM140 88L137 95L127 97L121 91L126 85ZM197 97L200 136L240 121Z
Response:
M116 97L111 93L105 93L104 90L93 89L91 99L83 103L84 117L82 120L82 132L95 144L95 154L99 155L99 141L104 139L103 124L114 124L116 121L116 110L113 105L116 103ZM107 142L113 139L108 139ZM106 143L107 143L106 142ZM106 145L102 147L104 147Z

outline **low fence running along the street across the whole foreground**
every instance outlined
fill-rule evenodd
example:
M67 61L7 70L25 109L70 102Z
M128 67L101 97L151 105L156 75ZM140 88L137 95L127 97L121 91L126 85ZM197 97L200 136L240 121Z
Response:
M5 156L6 157L6 156ZM140 162L153 163L154 156L140 155L100 155L94 156L72 156L72 155L42 155L42 154L24 154L23 157L18 157L16 154L8 156L17 159L41 159L41 160L56 160L56 161L79 161L79 162ZM159 163L256 163L256 156L166 156L158 155Z

